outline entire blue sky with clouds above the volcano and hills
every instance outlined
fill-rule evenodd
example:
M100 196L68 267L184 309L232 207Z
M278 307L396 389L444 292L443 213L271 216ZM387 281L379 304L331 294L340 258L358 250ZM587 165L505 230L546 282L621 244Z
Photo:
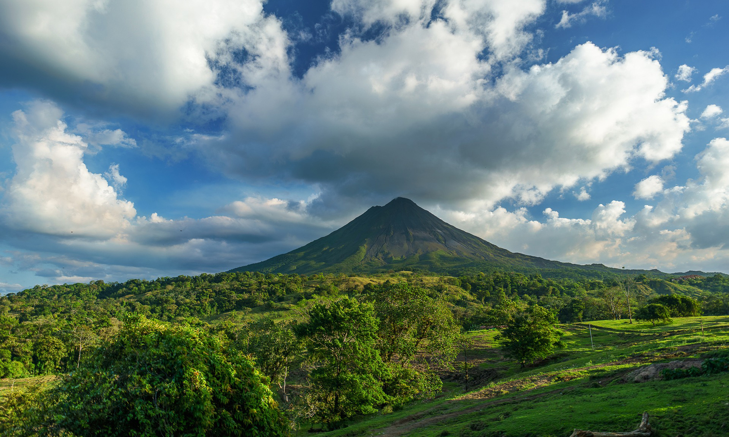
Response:
M729 272L724 0L0 0L0 292L220 272L408 197Z

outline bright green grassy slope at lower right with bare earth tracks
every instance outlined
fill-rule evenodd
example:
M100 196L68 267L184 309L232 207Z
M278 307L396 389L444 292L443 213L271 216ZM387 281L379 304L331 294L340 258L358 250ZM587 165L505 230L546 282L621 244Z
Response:
M729 353L729 317L677 318L655 327L602 320L561 328L566 347L526 369L504 360L496 331L469 333L474 346L465 356L475 366L468 386L461 354L461 377L446 382L438 398L318 435L567 437L574 428L634 430L643 412L650 414L654 436L729 435L729 372L626 381L631 371L651 363Z

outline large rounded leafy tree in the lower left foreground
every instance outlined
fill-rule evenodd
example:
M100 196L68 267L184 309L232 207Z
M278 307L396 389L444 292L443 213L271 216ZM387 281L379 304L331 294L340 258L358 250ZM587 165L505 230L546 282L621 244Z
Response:
M144 316L125 320L47 393L39 434L75 436L285 436L260 373L217 337Z

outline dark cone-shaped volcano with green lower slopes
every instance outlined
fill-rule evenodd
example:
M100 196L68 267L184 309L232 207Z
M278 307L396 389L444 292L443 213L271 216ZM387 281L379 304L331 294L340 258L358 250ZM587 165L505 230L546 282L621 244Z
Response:
M612 270L602 265L577 266L507 251L445 223L412 200L397 197L385 206L373 206L308 245L230 271L311 274L422 269L456 272L469 267Z

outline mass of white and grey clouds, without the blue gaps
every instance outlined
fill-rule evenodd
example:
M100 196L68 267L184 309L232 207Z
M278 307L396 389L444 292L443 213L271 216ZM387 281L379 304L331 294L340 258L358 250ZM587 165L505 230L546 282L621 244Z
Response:
M551 192L587 201L590 184L612 173L671 160L691 129L687 103L666 95L672 85L655 50L586 42L545 60L536 26L548 9L572 8L551 27L604 17L606 2L580 3L335 0L331 13L352 25L337 50L296 76L297 41L316 36L290 34L260 1L3 2L0 53L12 61L4 84L109 117L187 124L179 144L210 168L248 184L309 186L312 196L242 198L200 219L139 215L122 196L124 168L109 162L104 175L92 173L84 156L90 146L143 143L122 130L69 127L58 104L36 101L13 115L17 170L2 226L17 251L0 262L56 280L70 277L62 266L86 272L77 278L223 269L406 196L515 251L720 268L712 259L724 259L729 235L717 226L729 218L723 138L696 157L698 179L670 187L644 177L628 196L651 205L632 216L628 199L615 199L589 218L551 208L529 217L525 207ZM54 19L59 8L68 19ZM726 69L715 70L695 88ZM675 79L690 82L693 71L681 66ZM714 106L704 119L721 114ZM217 132L195 132L211 120Z

